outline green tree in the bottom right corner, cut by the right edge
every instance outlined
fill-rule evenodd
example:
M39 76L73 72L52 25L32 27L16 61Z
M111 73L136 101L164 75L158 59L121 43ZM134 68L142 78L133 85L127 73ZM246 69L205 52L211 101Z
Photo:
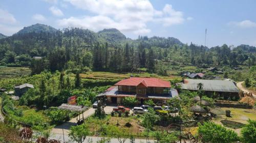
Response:
M247 125L242 128L241 134L245 143L256 142L256 121L248 120Z

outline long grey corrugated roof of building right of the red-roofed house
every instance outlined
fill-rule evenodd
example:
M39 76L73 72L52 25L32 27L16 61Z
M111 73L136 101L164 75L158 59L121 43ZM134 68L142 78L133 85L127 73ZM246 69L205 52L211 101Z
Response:
M203 83L204 91L239 92L238 88L232 81L226 80L184 79L184 84L181 84L181 89L197 91L198 83Z

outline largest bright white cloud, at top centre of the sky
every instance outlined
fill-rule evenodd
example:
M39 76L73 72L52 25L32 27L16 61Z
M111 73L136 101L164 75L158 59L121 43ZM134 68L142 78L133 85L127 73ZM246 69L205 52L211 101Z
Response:
M166 4L158 11L148 0L66 0L73 6L89 11L93 16L69 17L58 20L61 26L78 26L98 31L102 28L118 28L122 32L145 34L151 32L148 22L164 26L184 22L183 13Z

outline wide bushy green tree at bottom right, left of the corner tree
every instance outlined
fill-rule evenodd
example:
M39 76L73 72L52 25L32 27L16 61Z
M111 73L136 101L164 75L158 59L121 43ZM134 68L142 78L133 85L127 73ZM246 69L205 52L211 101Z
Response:
M199 124L198 133L202 137L203 142L231 143L239 140L236 132L212 122L204 122L203 125Z

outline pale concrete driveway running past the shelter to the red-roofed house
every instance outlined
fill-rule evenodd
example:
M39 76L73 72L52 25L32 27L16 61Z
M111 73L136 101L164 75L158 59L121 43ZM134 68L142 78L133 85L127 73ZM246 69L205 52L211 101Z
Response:
M106 106L104 108L105 113L109 114L113 110L113 107L114 106ZM95 113L95 109L94 108L89 108L88 110L83 112L83 117L84 117L84 119L86 119L86 118L92 116L94 113ZM79 119L79 116L77 116L77 117L71 119L70 121L65 122L65 123L63 123L63 124L61 124L59 126L55 126L52 129L52 133L53 134L62 134L62 132L64 132L64 134L69 134L69 128L71 126L75 126L76 125L76 122L77 122L76 119L77 118ZM80 114L80 118L82 118L82 114ZM62 131L62 129L63 129L63 131Z

